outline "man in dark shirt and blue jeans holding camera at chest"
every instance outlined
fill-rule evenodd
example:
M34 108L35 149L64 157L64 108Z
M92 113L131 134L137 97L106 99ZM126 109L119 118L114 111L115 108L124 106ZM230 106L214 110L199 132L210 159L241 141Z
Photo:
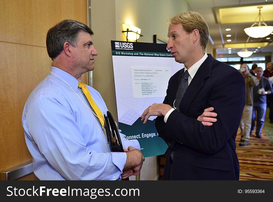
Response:
M261 131L266 116L266 95L271 94L273 92L273 89L269 80L263 76L262 67L257 67L256 73L256 78L259 80L259 84L253 88L253 113L250 135L255 128L257 111L257 124L255 134L257 138L262 138Z

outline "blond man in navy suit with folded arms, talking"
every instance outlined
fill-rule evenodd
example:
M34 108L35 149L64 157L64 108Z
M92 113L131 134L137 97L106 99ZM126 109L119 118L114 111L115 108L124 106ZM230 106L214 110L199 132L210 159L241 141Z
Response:
M180 13L169 22L167 48L185 68L170 78L163 104L141 115L144 123L158 116L155 127L169 146L163 179L239 180L235 138L245 105L244 78L206 54L208 25L199 13ZM209 107L217 114L210 125L202 122L210 115L199 116Z

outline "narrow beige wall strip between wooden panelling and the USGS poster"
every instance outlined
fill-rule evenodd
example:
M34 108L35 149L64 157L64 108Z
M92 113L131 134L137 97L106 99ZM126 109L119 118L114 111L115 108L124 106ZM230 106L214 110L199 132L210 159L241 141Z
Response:
M101 93L108 110L118 120L114 88L111 40L116 40L115 1L91 1L91 29L94 47L98 51L95 57L93 87Z

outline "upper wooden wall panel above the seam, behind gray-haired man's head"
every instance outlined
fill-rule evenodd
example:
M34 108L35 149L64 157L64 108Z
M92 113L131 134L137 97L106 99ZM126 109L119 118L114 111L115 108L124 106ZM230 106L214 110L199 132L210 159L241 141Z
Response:
M0 41L46 47L47 30L63 19L86 24L86 0L1 0Z

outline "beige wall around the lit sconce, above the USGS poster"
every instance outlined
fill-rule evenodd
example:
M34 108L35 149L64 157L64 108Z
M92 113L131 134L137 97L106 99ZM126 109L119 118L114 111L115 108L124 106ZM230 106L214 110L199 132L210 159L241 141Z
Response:
M116 36L126 41L122 31L123 23L141 28L139 42L153 43L153 35L168 40L168 18L188 11L186 0L116 0Z

